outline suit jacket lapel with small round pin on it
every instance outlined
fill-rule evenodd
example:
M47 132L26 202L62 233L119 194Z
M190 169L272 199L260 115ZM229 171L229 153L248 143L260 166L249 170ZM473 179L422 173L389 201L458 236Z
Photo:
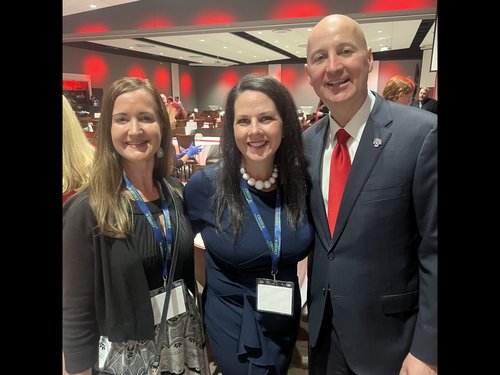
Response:
M377 95L376 95L377 96ZM349 172L349 177L340 203L337 224L329 248L333 248L342 234L359 194L370 173L391 137L388 125L392 123L390 110L386 102L380 102L377 96L373 110L366 122L363 135L356 151L356 156ZM378 141L378 140L380 141ZM375 143L380 143L378 147ZM327 228L328 230L328 228Z

